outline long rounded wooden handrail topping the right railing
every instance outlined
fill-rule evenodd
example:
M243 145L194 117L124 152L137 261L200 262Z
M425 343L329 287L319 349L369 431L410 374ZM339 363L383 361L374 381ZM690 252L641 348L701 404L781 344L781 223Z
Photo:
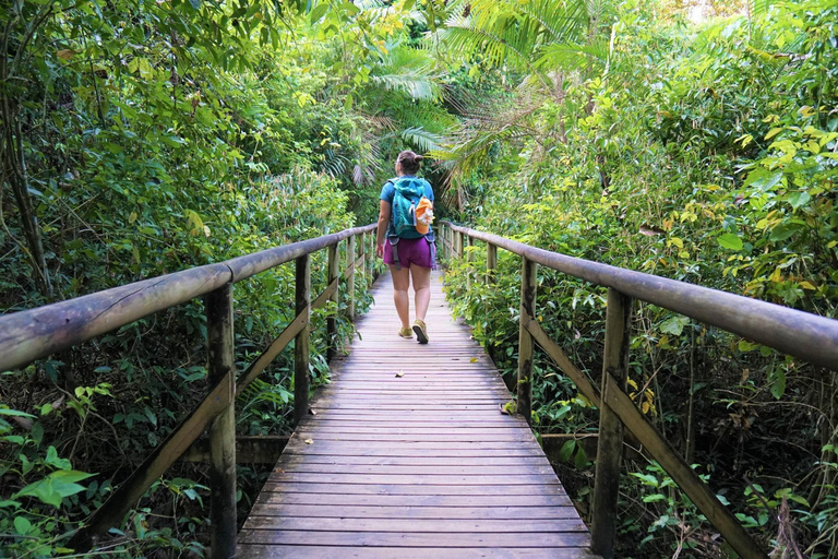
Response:
M813 365L838 370L838 320L678 280L551 252L451 222L442 224L547 267L612 287L636 299L721 328Z

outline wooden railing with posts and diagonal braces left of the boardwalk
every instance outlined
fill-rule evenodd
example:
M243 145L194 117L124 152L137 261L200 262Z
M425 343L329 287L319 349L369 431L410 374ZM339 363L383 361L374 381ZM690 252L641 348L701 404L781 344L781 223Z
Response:
M347 281L347 314L355 314L355 271L368 270L376 225L347 229L115 287L55 305L0 317L0 371L20 368L118 329L143 317L206 296L208 394L145 461L110 495L68 546L83 552L124 514L208 427L212 557L236 555L236 394L255 379L295 340L294 418L309 408L309 332L312 310L337 302L340 275ZM356 238L360 254L356 258ZM369 238L369 240L368 240ZM347 239L347 262L339 273L338 243ZM327 249L327 285L311 300L310 254ZM369 249L369 250L368 250ZM234 361L232 284L286 262L296 263L296 318L240 376ZM326 319L328 356L335 355L337 321Z

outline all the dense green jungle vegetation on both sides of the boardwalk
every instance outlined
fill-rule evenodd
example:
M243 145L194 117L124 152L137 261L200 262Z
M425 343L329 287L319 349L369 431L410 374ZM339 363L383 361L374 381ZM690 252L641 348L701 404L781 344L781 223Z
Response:
M371 223L405 147L435 159L438 216L838 312L838 0L0 5L4 313ZM512 379L520 271L499 257L494 287L466 292L451 262L448 289ZM292 274L236 286L240 364L292 319ZM538 309L597 379L604 290L542 270ZM345 337L343 310L315 328L336 316ZM643 413L774 557L838 558L838 373L654 306L633 329ZM205 393L205 334L193 301L2 373L0 557L72 555ZM241 435L289 429L290 359L239 395ZM536 372L540 431L596 430L547 357ZM585 515L592 464L562 455ZM624 467L620 557L731 556L655 463ZM98 554L203 557L205 476L177 465ZM240 466L241 514L264 476Z

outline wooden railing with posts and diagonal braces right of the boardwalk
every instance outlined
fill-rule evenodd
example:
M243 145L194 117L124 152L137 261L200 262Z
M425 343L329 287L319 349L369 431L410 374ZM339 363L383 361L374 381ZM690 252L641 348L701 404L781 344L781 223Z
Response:
M637 409L626 394L630 318L639 299L741 335L813 365L838 370L838 320L538 249L496 235L443 222L443 253L470 261L474 240L486 242L486 282L494 281L498 247L522 257L517 411L531 416L534 342L599 408L599 442L594 486L591 550L613 557L623 428L627 428L735 551L746 559L767 555L719 501L686 461ZM576 368L536 317L538 264L608 287L606 340L600 386ZM467 275L470 286L471 273Z

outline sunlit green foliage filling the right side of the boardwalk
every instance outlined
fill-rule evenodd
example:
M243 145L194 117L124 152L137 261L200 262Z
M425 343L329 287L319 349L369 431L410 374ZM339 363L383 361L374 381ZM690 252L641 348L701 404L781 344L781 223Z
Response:
M460 38L453 40L466 45L457 29L472 33L489 12L481 28L524 34L526 16L520 27L504 22L530 4L498 2L457 20L451 35ZM466 169L459 218L572 257L836 317L838 49L830 45L838 4L766 4L703 27L665 16L667 9L615 5L603 21L609 33L597 29L608 36L608 49L599 50L608 56L527 34L525 62L501 70L522 85L495 87L450 152ZM552 86L528 66L547 51L556 53ZM560 56L574 51L591 63ZM466 55L465 66L479 63ZM470 266L451 263L450 294L513 381L519 261L501 252L494 285L472 280L466 292L467 271L484 273L482 254L472 250ZM603 296L538 272L537 319L594 384ZM766 547L791 549L778 534L792 526L802 551L836 557L835 531L819 523L835 510L834 476L824 465L830 461L821 451L838 432L835 374L650 305L636 306L632 326L628 393L642 413L713 474L714 488L742 519L754 519L747 526ZM596 415L575 403L575 388L538 353L534 376L539 430L595 428ZM573 450L565 448L565 457L573 460ZM642 476L624 480L625 551L669 556L681 543L696 555L717 552L694 507L670 486L657 490L662 473L638 467L628 465ZM764 502L744 476L765 488ZM777 518L783 502L785 524L764 520Z

